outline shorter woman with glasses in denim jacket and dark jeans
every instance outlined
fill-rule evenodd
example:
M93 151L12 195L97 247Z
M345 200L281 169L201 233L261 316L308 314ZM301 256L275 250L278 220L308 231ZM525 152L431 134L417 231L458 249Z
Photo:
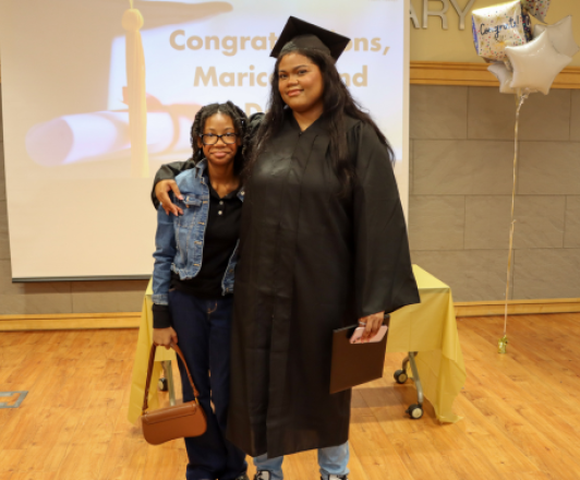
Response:
M225 436L245 123L230 101L197 112L191 131L195 167L176 178L181 193L171 199L181 215L168 216L161 205L157 215L154 343L168 348L179 341L207 415L207 431L185 439L188 480L247 480L244 453ZM183 401L191 401L178 362Z

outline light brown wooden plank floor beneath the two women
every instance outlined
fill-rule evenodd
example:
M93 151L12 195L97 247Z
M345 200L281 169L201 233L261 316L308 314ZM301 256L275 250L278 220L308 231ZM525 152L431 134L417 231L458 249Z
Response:
M411 421L412 383L385 377L357 388L351 480L580 479L580 314L510 319L509 352L496 353L502 319L466 319L468 370L440 425L431 405ZM0 392L29 391L0 409L0 480L184 479L182 441L153 447L126 421L137 331L0 333ZM251 469L252 470L252 469ZM288 480L318 479L316 455L285 461Z

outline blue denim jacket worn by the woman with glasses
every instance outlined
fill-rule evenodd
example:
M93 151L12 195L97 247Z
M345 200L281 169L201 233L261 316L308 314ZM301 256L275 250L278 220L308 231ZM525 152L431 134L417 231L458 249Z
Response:
M153 302L168 304L171 271L184 280L195 277L202 269L202 257L207 215L209 213L209 188L204 177L206 160L176 177L183 200L171 201L183 209L183 215L167 215L164 207L157 208L157 233L155 236L155 266L153 268ZM243 202L244 191L238 197ZM238 262L240 240L230 256L221 280L221 295L233 292L233 272Z

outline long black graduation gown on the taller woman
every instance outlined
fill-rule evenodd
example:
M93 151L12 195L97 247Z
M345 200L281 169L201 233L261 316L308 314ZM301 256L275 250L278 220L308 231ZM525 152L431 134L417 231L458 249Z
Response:
M301 133L291 112L245 185L228 436L251 456L345 443L351 392L328 393L333 331L420 301L387 149L371 127L346 123L348 195L325 119Z

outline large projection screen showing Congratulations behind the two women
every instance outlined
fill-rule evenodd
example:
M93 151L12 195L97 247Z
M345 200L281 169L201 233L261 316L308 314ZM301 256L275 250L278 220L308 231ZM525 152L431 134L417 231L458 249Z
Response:
M5 178L14 280L142 278L149 194L190 157L197 109L266 108L269 51L289 15L351 37L337 63L397 154L408 196L408 0L134 0L144 19L148 159L131 167L128 0L0 0Z

